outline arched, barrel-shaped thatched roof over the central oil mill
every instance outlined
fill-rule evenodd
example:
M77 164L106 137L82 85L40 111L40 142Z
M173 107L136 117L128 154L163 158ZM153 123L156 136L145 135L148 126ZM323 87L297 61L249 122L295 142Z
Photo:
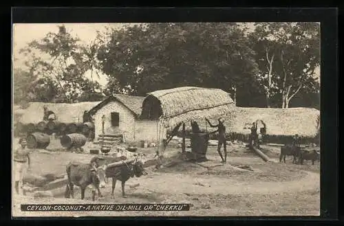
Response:
M148 93L142 104L142 118L161 118L164 126L201 120L230 113L235 106L221 89L179 87Z

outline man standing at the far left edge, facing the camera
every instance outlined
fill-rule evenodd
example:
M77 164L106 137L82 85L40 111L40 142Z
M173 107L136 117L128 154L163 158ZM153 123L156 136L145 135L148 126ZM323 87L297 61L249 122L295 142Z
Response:
M21 146L14 151L14 188L17 194L23 189L23 177L27 168L30 169L30 152L26 147L25 138L19 139ZM27 165L28 164L28 165ZM24 192L23 192L24 193Z

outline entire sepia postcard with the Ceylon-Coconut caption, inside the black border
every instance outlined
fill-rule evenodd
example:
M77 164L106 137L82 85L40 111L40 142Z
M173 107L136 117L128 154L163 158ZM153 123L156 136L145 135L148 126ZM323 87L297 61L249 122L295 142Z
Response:
M320 23L14 23L12 216L319 216Z

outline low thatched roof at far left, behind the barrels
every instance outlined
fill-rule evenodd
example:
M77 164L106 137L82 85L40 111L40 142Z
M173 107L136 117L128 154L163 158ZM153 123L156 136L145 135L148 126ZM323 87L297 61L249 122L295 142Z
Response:
M24 124L41 122L44 114L43 106L47 106L49 111L54 111L57 117L56 120L59 122L83 122L84 111L89 111L97 104L99 102L79 102L75 104L30 102L19 122Z

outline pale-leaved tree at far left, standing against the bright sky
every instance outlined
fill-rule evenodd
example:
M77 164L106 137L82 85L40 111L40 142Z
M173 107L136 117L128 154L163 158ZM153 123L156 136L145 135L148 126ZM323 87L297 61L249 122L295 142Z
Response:
M78 45L79 39L69 34L64 25L58 26L58 32L50 32L40 41L32 41L28 47L21 50L25 56L30 56L26 62L32 74L41 82L54 87L55 95L40 100L55 100L58 102L76 102L80 95L100 96L98 82L85 78L87 70L96 67L94 55L96 45L83 47ZM37 57L34 52L38 51ZM45 54L44 58L42 55ZM96 91L98 89L98 91ZM37 93L39 94L39 93Z

